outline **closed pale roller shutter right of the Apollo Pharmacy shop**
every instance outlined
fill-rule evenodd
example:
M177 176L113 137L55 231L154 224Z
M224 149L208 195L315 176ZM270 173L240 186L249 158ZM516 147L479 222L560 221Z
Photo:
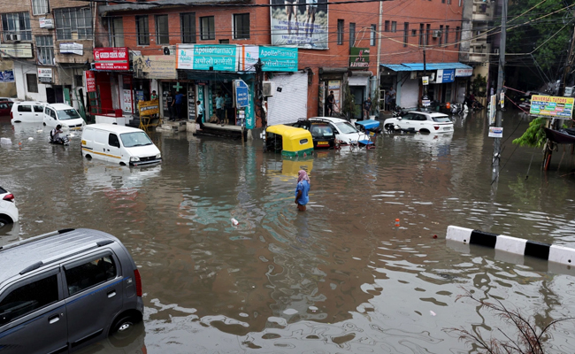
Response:
M267 99L267 125L295 123L308 116L308 74L275 74L276 90ZM281 92L277 89L280 88Z

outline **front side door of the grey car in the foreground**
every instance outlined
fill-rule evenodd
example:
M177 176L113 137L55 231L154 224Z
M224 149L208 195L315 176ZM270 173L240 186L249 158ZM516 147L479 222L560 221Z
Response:
M0 295L0 352L68 352L67 316L59 268L12 284Z

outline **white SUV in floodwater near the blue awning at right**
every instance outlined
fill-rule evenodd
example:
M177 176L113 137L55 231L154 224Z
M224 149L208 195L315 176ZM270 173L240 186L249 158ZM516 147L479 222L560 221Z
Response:
M453 122L449 116L437 112L408 112L403 117L386 119L383 127L387 131L403 130L427 134L453 132Z

